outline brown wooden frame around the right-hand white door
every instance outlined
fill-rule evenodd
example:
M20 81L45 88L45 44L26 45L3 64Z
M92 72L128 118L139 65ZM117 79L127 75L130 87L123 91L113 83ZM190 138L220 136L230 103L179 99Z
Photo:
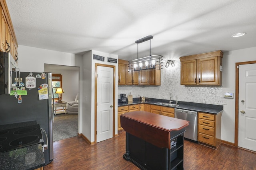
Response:
M246 61L246 62L240 62L236 63L236 102L235 102L235 147L238 147L238 109L239 109L239 65L243 64L255 64L256 61Z

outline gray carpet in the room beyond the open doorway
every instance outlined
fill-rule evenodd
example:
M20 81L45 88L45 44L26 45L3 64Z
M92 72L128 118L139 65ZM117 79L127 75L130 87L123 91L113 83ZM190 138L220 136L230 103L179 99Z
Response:
M53 141L74 137L78 133L78 114L57 114L52 123Z

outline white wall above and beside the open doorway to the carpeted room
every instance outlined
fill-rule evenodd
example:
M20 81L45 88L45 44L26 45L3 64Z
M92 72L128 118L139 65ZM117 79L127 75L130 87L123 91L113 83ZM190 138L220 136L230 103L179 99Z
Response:
M44 64L80 66L79 91L80 94L82 93L81 77L83 65L81 55L19 45L18 68L20 68L21 72L44 72ZM79 101L82 103L82 97L80 96ZM79 112L82 113L82 111L82 105L80 105ZM79 116L82 117L82 114L80 114ZM78 119L78 133L82 133L82 123L80 123L80 119Z

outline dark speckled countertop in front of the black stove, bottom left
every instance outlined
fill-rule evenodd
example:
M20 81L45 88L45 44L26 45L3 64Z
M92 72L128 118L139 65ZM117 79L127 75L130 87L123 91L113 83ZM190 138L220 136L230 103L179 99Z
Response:
M44 164L41 144L0 153L0 170L34 170Z

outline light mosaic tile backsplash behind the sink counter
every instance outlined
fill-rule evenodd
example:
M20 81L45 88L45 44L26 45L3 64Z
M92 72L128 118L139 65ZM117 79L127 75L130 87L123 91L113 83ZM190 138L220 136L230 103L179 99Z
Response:
M172 100L176 100L177 96L178 101L207 104L217 104L217 100L223 97L222 87L180 85L179 66L162 68L161 86L118 86L118 95L120 93L128 95L131 92L133 98L145 96L169 100L171 92Z

